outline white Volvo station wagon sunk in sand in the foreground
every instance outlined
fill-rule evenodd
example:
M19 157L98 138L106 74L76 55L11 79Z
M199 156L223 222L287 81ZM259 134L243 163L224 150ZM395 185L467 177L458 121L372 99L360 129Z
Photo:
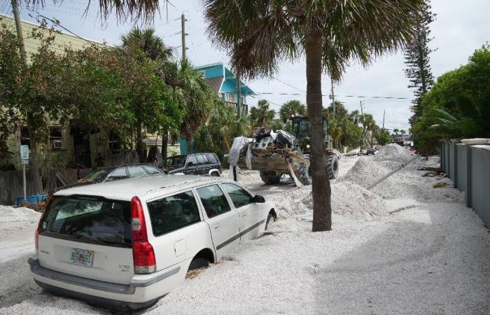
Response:
M274 221L235 182L155 175L60 190L36 230L34 281L116 309L148 307Z

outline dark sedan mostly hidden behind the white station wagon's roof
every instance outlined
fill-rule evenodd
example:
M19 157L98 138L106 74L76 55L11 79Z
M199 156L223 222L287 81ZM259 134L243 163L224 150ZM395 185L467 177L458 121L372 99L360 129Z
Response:
M104 181L116 181L118 179L130 179L133 177L141 177L155 174L164 174L161 169L152 165L136 164L136 165L119 165L116 167L104 167L96 169L81 182L85 183L102 183Z

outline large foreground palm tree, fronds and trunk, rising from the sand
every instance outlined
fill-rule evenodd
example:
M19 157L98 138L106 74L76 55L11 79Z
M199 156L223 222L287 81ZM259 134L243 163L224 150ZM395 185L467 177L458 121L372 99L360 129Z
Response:
M272 76L306 57L311 125L313 230L331 229L330 182L322 130L321 74L339 80L349 62L367 65L402 48L423 0L204 0L208 31L242 76Z

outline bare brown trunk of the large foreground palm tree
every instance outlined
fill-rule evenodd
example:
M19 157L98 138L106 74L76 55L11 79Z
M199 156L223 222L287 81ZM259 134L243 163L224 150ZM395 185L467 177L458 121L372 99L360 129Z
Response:
M313 190L313 232L332 229L330 181L325 159L323 106L321 96L321 31L309 31L304 44L307 64L307 109L311 141L311 180Z

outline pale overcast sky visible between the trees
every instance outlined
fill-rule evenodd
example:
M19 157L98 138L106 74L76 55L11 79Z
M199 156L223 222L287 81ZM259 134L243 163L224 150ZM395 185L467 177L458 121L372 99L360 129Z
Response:
M37 9L38 13L48 18L56 18L61 25L84 38L94 41L106 41L111 45L120 43L120 35L132 28L132 24L117 22L110 18L102 26L98 16L98 0L92 1L87 15L83 16L85 3L83 0L64 0L59 4L45 0L45 8ZM174 6L161 9L160 16L155 18L153 26L157 34L162 36L165 43L177 47L181 45L180 16L186 15L187 56L195 65L210 64L214 62L228 63L226 52L213 47L206 34L206 23L202 15L200 0L172 1ZM433 41L431 48L437 48L430 56L430 64L434 75L440 76L446 71L456 69L465 64L472 52L490 40L490 0L433 0L433 12L437 19L431 25ZM11 14L10 0L0 1L0 12ZM36 19L35 10L21 7L21 18L31 22ZM176 55L181 56L181 48L176 48ZM336 99L344 102L349 110L360 109L360 100L363 100L365 112L372 113L377 123L381 125L383 111L386 110L385 127L389 129L408 129L408 118L412 90L405 78L403 69L403 55L401 52L386 55L364 69L353 64L346 71L341 83L335 86ZM249 80L246 83L257 93L272 92L257 96L258 99L267 99L272 108L279 109L279 105L290 99L300 99L305 102L305 96L300 90L306 90L306 76L304 60L295 64L282 64L276 78L297 87L295 90L279 80ZM330 94L330 78L323 76L323 94ZM281 95L279 93L300 93L301 95ZM346 97L346 95L367 97L407 97L407 99L374 99ZM248 98L249 105L255 105L258 99ZM330 102L328 97L323 99L326 106Z

